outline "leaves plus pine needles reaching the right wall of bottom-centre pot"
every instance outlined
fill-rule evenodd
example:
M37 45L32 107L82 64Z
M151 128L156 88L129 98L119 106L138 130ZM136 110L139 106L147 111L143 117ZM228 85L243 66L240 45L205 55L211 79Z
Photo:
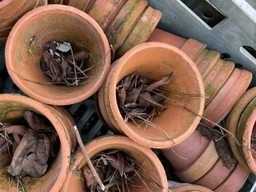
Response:
M129 191L129 186L146 187L148 191L163 189L163 186L147 175L143 164L139 166L134 157L125 150L105 150L93 157L92 163L106 188L105 191ZM88 165L84 166L83 173L90 191L102 191ZM136 180L140 180L140 186L135 184ZM149 189L145 184L146 180L150 180L155 189Z

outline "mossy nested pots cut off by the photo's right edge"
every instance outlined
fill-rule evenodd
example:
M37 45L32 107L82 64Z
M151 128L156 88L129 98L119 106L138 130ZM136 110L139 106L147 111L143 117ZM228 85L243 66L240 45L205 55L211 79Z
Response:
M255 152L256 87L244 93L227 118L228 143L239 163L256 174Z

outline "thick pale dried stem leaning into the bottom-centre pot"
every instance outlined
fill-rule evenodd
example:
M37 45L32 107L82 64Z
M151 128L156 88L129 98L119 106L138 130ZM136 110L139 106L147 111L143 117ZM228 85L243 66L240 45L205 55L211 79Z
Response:
M92 171L92 174L95 177L95 180L99 184L100 188L102 190L105 190L105 186L102 183L102 181L100 180L100 177L99 177L98 173L96 172L96 170L95 170L95 168L94 168L94 166L92 164L92 161L91 161L90 157L88 156L88 154L87 154L87 152L86 152L86 150L84 148L83 141L81 140L81 136L79 134L79 131L78 131L76 125L74 126L74 130L75 130L75 133L76 133L76 138L77 138L77 141L79 143L79 146L80 146L80 148L81 148L81 150L83 152L84 158L85 158L86 162L88 163L88 166L89 166L90 170Z

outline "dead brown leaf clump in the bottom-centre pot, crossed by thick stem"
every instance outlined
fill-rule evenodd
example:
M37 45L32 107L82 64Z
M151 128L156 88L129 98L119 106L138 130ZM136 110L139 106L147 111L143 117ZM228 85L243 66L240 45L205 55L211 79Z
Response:
M117 149L101 152L93 157L92 163L106 191L125 191L131 182L136 164L131 154ZM90 191L102 191L88 165L84 166L84 177Z

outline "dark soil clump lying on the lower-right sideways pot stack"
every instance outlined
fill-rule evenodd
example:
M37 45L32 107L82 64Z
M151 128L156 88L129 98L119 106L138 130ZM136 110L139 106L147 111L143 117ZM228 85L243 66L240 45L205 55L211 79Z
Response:
M236 157L234 156L230 146L228 145L227 138L218 132L217 128L208 128L202 124L196 127L196 131L200 132L204 136L207 136L210 140L214 141L216 151L219 157L229 170L233 170L236 165Z

